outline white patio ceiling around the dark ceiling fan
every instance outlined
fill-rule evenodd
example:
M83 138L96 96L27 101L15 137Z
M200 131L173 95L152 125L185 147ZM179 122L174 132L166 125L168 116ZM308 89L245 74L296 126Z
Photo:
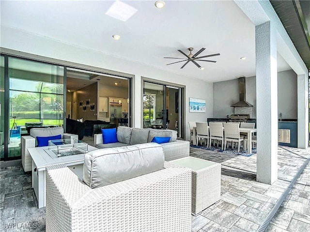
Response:
M255 76L255 26L233 1L123 1L138 11L127 21L105 15L114 1L0 1L1 25L210 82ZM119 34L120 40L114 40ZM26 43L26 41L21 41ZM217 61L184 62L187 47ZM247 57L246 60L240 60ZM107 68L107 67L105 67ZM278 54L278 71L291 69Z

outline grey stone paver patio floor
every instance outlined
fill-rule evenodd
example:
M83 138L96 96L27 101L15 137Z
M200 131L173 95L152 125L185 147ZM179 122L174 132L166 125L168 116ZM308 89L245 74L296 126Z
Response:
M279 147L278 180L271 186L256 182L256 155L245 157L197 148L190 148L190 155L222 164L221 199L192 216L192 232L255 232L310 158L310 148ZM19 165L1 168L0 176L0 231L45 231L45 208L37 208L31 173L25 173ZM310 163L266 231L310 231Z

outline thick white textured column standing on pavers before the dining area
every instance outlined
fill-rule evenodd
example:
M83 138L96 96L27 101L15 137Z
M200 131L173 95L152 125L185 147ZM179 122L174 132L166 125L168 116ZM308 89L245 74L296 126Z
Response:
M277 38L270 21L255 26L258 182L278 179Z

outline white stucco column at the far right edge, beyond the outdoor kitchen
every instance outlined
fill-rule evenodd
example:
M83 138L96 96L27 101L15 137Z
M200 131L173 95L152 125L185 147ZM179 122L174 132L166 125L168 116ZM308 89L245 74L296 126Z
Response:
M308 75L297 75L297 147L309 146Z

